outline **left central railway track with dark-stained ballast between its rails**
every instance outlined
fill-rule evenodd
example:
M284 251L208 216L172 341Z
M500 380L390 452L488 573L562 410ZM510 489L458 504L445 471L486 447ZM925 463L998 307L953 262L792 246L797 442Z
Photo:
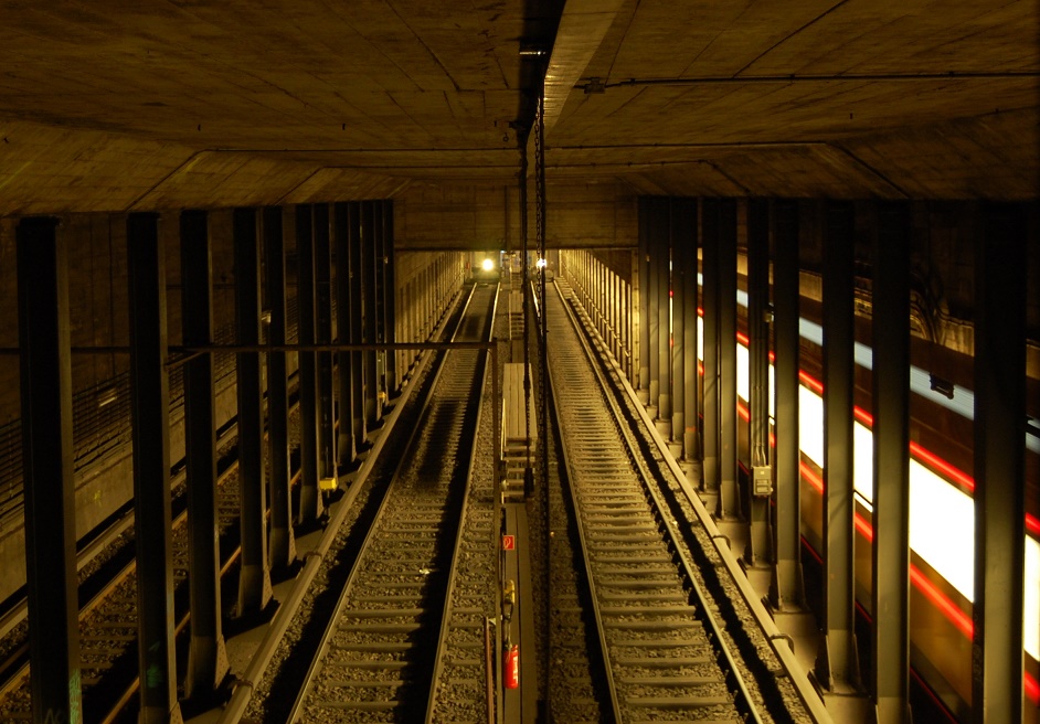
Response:
M495 297L474 288L454 341L488 339ZM428 721L444 706L487 721L494 515L490 490L469 487L487 356L444 355L289 721Z

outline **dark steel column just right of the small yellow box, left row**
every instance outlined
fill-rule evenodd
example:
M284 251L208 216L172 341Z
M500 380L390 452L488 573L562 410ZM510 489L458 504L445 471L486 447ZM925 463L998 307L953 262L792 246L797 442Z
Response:
M340 202L332 206L332 249L336 256L336 336L341 342L353 342L351 331L355 299L350 296L350 207ZM413 341L413 340L408 340ZM353 352L339 352L339 450L340 465L353 462L354 447Z

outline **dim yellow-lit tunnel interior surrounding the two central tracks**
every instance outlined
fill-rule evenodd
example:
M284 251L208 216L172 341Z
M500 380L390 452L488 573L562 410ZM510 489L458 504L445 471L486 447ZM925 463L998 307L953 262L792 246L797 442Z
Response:
M287 582L327 555L466 291L508 283L501 354L541 374L537 315L566 288L813 718L1037 721L1038 18L9 9L0 600L32 662L19 716L94 715L77 582L127 535L132 711L245 716L266 662L243 641L288 625L306 586ZM526 453L521 501L548 447ZM222 515L241 544L223 583ZM545 701L523 721L550 721Z

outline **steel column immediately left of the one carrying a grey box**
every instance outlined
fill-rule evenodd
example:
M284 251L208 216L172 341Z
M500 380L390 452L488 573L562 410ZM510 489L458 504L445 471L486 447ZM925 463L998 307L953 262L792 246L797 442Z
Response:
M743 515L736 467L736 200L719 202L719 503L723 519Z

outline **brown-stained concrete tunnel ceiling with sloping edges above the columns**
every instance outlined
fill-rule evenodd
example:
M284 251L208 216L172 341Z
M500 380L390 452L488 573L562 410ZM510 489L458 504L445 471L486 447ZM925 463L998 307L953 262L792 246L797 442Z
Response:
M551 183L1030 199L1032 0L6 2L0 214ZM545 55L530 52L545 51Z

